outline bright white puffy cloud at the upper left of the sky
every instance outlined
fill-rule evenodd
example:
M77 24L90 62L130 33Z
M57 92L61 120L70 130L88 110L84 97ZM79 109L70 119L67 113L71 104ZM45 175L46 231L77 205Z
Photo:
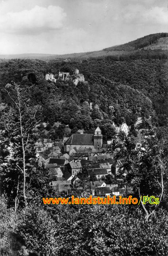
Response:
M31 10L0 15L0 31L14 34L40 34L63 26L66 13L59 6L36 5Z

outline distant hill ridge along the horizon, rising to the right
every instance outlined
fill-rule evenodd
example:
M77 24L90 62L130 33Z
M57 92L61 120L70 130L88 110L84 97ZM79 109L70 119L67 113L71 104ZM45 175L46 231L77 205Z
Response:
M156 33L146 35L134 41L122 45L115 45L104 48L100 51L69 53L69 54L45 54L45 53L23 53L23 54L4 54L0 55L0 59L89 59L104 56L120 56L136 52L137 50L168 50L168 33ZM166 51L167 52L167 51Z

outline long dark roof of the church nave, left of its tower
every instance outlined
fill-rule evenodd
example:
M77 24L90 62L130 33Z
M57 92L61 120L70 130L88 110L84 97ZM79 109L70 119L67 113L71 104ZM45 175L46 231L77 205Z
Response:
M94 145L94 134L72 134L64 145Z

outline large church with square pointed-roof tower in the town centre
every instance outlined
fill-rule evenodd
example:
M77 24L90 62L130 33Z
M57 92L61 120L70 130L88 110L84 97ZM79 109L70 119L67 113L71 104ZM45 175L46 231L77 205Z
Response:
M99 150L102 148L102 143L102 131L97 127L94 134L72 134L64 143L64 151L69 152L74 147L77 149L83 147Z

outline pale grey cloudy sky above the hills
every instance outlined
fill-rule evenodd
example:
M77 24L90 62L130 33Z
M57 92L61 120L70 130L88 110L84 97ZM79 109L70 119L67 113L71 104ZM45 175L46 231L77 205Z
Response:
M161 32L167 0L0 0L0 54L90 52Z

